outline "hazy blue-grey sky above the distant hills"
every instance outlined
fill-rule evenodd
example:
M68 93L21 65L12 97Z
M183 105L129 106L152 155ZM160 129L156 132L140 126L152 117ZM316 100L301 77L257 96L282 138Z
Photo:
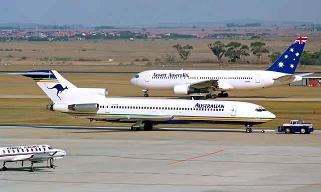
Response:
M0 0L0 23L142 25L253 18L321 23L321 0Z

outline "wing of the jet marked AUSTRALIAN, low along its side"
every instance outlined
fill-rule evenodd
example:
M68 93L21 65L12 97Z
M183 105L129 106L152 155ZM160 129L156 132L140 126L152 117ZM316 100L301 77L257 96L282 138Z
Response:
M137 120L151 120L151 121L166 121L171 120L173 115L97 115L97 116L77 116L81 118L90 118L94 120L119 120L119 121L137 121Z

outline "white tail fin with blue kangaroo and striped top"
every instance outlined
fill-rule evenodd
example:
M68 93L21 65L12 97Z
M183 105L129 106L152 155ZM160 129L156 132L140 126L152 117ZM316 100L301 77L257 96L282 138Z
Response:
M11 74L21 74L33 78L55 103L63 103L71 100L72 92L77 89L77 86L69 82L55 70L33 70Z

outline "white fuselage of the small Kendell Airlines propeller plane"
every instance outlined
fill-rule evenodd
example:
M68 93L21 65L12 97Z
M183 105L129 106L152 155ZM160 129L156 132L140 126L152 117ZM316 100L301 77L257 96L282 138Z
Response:
M62 158L66 155L66 152L64 150L51 148L48 144L7 146L0 147L0 161L10 162L28 160L28 158L31 158L34 154L45 152L50 154L56 152L53 155L54 158Z

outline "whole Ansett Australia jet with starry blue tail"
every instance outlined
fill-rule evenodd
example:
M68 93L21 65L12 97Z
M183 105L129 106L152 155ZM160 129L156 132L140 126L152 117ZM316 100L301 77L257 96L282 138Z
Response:
M206 98L228 97L228 90L255 90L295 82L302 76L294 71L307 37L298 37L290 47L265 70L146 70L130 82L148 90L174 90L179 95L206 95ZM214 91L221 91L217 95Z

